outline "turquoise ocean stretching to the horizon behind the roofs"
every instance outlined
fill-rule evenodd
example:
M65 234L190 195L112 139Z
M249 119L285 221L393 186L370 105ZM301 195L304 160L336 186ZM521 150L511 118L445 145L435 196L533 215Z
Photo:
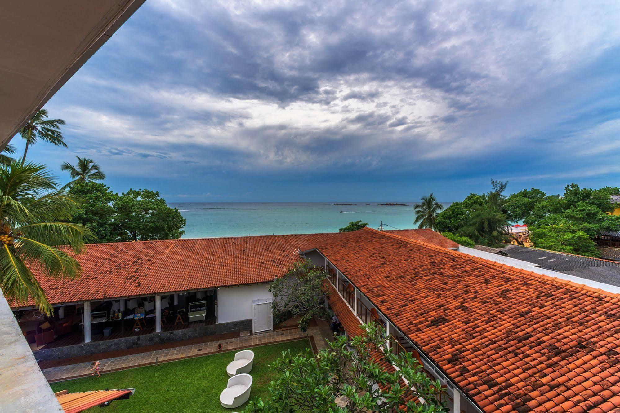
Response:
M382 220L385 229L416 227L415 201L397 202L409 206L378 206L383 202L351 203L353 205L330 202L169 202L169 206L178 208L187 220L182 238L337 232L350 221L360 219L368 222L371 228L378 228ZM451 202L441 203L447 207Z

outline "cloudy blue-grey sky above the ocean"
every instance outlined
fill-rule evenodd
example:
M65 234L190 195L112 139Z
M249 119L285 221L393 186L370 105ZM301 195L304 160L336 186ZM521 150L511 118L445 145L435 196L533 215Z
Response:
M48 103L69 149L29 154L169 201L616 186L618 22L618 1L148 0Z

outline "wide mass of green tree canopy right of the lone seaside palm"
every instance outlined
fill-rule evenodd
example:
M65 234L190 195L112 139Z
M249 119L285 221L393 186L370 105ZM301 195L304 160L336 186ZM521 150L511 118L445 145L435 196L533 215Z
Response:
M614 210L611 195L620 193L617 187L590 189L571 183L561 196L531 188L505 197L505 183L491 183L489 193L469 194L441 212L436 229L444 235L498 246L509 239L509 223L523 222L534 246L587 256L598 256L592 238L620 230L620 216L608 214Z

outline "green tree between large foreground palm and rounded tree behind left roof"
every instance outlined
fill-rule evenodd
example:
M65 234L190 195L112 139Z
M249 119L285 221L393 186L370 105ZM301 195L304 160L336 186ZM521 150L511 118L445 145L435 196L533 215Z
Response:
M74 212L71 222L90 228L99 242L115 242L122 238L113 207L118 194L110 191L109 186L99 182L81 181L71 186L69 194L82 199L82 204Z

